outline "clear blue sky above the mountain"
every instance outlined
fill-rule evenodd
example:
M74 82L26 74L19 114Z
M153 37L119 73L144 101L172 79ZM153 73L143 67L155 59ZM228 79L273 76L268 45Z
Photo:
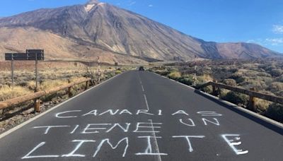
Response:
M0 17L87 0L1 0ZM100 0L206 41L253 42L283 53L283 0Z

